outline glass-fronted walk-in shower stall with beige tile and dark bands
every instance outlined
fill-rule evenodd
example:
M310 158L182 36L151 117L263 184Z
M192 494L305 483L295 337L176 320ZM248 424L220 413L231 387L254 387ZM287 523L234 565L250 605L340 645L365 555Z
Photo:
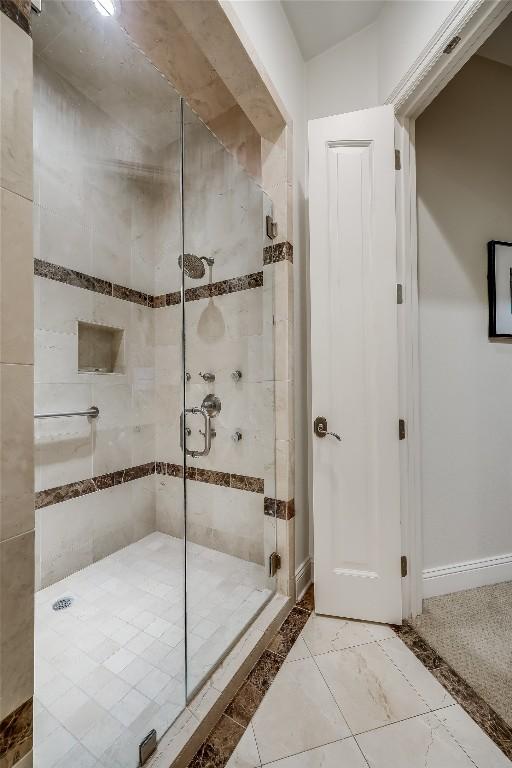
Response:
M109 8L33 19L38 768L135 768L275 591L271 203Z

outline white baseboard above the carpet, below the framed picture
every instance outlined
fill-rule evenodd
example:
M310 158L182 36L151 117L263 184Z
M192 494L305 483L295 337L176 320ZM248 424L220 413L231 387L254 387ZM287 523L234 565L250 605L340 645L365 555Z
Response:
M463 589L512 581L512 552L423 571L423 597L448 595Z

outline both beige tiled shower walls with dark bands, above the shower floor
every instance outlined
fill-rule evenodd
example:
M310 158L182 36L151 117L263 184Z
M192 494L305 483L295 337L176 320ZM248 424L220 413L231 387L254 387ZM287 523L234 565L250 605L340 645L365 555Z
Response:
M36 581L47 586L155 529L183 535L180 145L149 150L44 50L34 74L36 412L100 409L95 421L36 422ZM263 564L275 548L264 516L275 430L268 203L189 112L184 195L185 251L215 260L213 290L208 269L187 280L187 405L209 392L222 400L210 455L188 459L188 536ZM124 332L122 372L78 372L79 320ZM202 420L189 426L200 448ZM130 468L129 483L102 479ZM102 490L82 495L91 478Z

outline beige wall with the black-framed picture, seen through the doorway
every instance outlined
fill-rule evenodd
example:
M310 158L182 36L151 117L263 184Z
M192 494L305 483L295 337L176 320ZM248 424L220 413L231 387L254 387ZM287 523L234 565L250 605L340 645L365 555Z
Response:
M487 251L512 241L512 68L473 57L417 121L424 567L512 552L512 347Z

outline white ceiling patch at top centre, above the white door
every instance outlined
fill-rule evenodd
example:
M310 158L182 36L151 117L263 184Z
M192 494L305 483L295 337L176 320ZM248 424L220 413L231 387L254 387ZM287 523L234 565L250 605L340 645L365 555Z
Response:
M281 0L281 4L307 61L371 24L384 0Z

